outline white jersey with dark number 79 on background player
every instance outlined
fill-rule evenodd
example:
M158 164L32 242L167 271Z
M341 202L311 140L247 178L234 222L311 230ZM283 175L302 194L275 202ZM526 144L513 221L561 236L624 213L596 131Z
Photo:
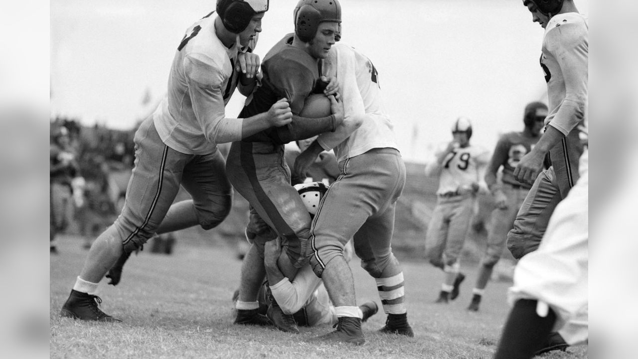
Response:
M484 183L484 172L489 162L489 151L481 146L457 147L443 158L426 166L429 176L440 171L439 188L436 194L447 192L470 192L472 183Z

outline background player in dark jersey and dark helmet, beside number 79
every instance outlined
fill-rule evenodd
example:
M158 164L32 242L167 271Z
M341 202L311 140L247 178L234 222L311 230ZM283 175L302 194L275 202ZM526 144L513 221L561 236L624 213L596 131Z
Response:
M507 233L512 229L516 213L531 188L528 183L521 183L514 178L514 168L526 153L530 152L540 138L540 130L547 116L547 105L542 102L531 102L525 106L521 132L508 132L501 136L492 153L487 166L485 183L494 197L496 208L492 211L489 230L487 231L487 247L479 264L479 276L472 290L472 300L468 310L479 310L482 295L487 281L492 275L494 265L498 263L505 250ZM501 181L497 182L496 174L503 167Z

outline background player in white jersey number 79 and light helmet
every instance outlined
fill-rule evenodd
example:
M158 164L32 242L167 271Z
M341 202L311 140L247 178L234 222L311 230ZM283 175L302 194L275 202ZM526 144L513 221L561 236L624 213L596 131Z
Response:
M459 270L459 255L470 229L476 194L487 192L484 173L489 152L470 144L470 119L454 121L452 136L434 162L426 165L426 176L439 174L436 207L427 225L426 258L445 272L436 303L448 303L459 295L465 275Z

